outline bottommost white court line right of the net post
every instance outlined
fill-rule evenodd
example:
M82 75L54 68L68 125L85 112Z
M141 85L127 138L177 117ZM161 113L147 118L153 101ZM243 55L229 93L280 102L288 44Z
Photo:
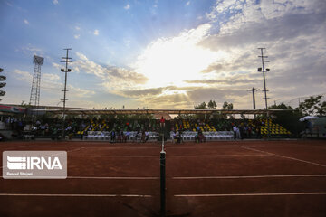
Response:
M175 197L231 197L231 196L285 196L285 195L326 195L321 193L220 193L220 194L177 194Z

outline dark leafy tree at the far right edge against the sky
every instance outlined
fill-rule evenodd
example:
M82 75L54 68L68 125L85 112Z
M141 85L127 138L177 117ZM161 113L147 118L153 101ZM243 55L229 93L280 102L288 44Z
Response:
M322 96L318 95L317 97L310 97L305 99L299 105L299 110L302 111L303 115L312 116L312 115L323 115L326 112L325 102L321 103Z

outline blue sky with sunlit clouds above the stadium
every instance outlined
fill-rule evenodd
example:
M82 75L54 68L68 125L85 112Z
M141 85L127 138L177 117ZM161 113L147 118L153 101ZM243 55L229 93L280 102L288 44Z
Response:
M29 103L33 56L44 58L40 105L193 109L225 101L264 109L257 48L268 56L268 105L326 94L324 0L0 0L1 103Z

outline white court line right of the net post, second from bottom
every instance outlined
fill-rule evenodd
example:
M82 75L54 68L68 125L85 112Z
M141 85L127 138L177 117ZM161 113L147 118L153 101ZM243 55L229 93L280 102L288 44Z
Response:
M326 175L230 175L230 176L172 177L172 179L246 179L246 178L288 178L288 177L326 177Z

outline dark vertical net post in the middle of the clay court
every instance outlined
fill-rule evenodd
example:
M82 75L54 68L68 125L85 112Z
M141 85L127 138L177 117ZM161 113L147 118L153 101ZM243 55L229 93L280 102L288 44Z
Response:
M160 216L166 216L166 152L164 151L164 140L159 156L160 167Z

